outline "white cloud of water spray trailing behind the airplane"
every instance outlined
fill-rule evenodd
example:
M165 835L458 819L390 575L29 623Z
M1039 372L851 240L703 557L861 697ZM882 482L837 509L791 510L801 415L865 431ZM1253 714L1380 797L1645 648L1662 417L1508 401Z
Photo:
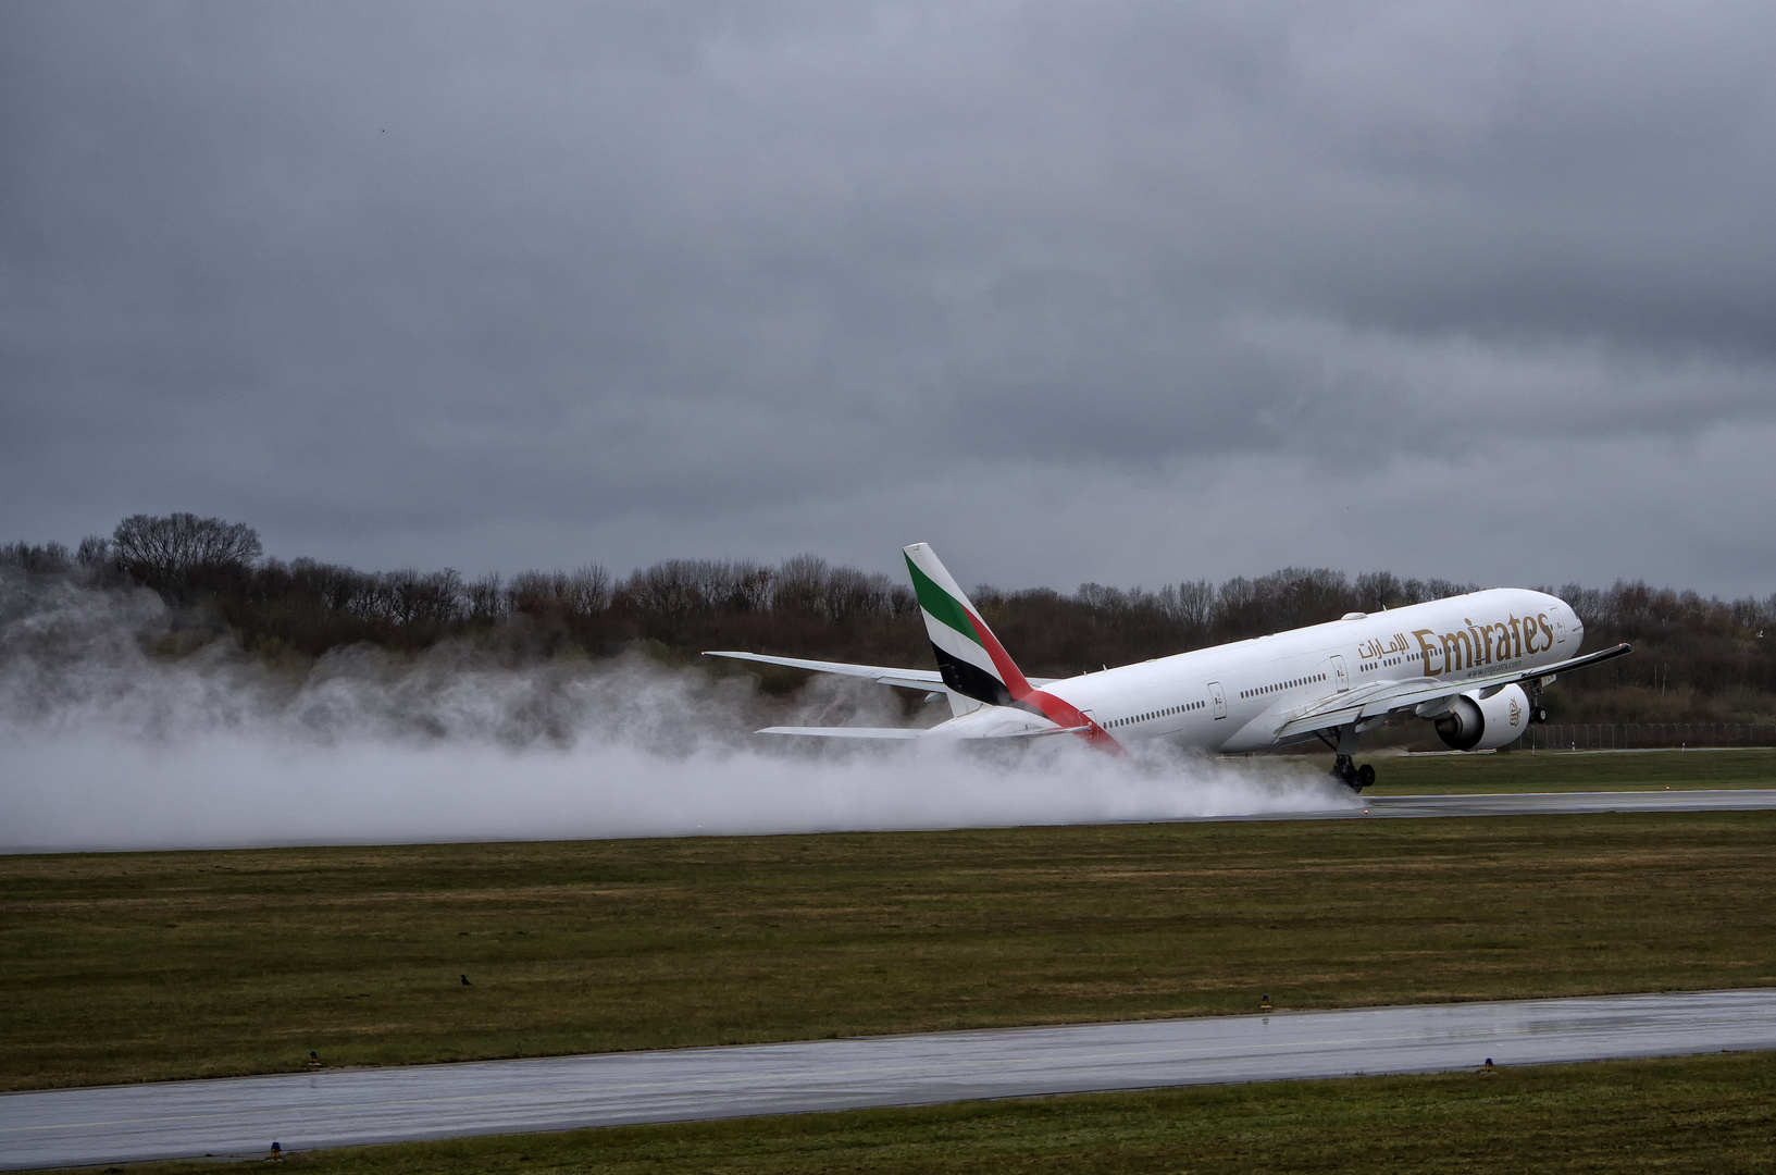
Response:
M464 647L281 675L149 658L149 592L0 572L0 851L1098 823L1348 807L1318 770L1083 747L975 755L753 736L751 677L641 659L506 670ZM226 643L226 642L222 642ZM801 720L884 725L879 686Z

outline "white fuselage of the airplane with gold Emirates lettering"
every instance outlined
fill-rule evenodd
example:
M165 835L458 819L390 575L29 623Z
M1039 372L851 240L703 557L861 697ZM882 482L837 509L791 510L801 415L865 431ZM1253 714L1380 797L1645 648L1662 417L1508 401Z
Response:
M1048 683L1117 741L1261 750L1298 711L1389 681L1460 684L1577 654L1556 595L1492 588ZM955 722L968 722L966 716ZM1311 734L1305 738L1312 738Z

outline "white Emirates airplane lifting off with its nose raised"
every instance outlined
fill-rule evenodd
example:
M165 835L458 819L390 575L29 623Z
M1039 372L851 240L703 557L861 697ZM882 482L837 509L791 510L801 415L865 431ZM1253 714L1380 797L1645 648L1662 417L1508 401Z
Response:
M1630 652L1581 656L1584 624L1558 595L1488 588L1391 611L1121 665L1078 677L1025 677L980 611L924 542L906 567L938 668L847 665L760 652L703 656L787 665L941 693L934 727L765 727L758 734L861 739L1028 739L1076 736L1124 752L1163 739L1213 754L1320 739L1353 791L1375 782L1359 739L1384 722L1424 718L1451 750L1494 750L1547 711L1534 697L1558 674Z

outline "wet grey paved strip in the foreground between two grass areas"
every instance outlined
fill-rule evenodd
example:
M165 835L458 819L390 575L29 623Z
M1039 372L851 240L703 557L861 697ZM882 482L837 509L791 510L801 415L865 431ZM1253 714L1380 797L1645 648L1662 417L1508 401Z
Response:
M0 1095L0 1168L1776 1049L1776 988L1279 1011Z

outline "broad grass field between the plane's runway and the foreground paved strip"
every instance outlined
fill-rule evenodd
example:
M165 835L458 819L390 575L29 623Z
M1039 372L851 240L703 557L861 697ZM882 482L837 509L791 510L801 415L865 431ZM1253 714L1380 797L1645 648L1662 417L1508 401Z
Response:
M1769 985L1772 848L1707 812L5 857L0 1086Z

